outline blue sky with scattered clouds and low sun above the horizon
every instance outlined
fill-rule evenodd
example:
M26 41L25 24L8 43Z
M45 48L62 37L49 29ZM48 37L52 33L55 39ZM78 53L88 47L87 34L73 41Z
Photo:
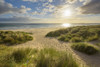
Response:
M100 23L100 0L0 0L0 23Z

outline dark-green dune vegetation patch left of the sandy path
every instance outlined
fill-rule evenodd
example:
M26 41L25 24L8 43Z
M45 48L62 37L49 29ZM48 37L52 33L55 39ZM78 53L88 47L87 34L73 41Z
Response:
M33 40L33 37L29 34L31 33L0 31L0 44L14 45L31 41Z

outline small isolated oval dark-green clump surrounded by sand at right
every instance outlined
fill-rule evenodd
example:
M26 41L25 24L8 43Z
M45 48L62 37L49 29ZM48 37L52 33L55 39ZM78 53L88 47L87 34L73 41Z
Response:
M88 43L73 43L71 47L77 51L86 53L88 55L95 54L99 51L96 47Z

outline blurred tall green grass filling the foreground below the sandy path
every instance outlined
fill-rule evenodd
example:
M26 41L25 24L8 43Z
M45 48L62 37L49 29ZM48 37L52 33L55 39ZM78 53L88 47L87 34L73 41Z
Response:
M0 54L0 67L80 67L71 54L52 48L14 50L0 45L2 51L5 53Z

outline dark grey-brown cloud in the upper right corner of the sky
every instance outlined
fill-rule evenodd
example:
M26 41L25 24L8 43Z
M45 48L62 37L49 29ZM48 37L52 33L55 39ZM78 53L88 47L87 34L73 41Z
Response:
M91 0L80 7L80 12L82 14L100 14L100 0Z

